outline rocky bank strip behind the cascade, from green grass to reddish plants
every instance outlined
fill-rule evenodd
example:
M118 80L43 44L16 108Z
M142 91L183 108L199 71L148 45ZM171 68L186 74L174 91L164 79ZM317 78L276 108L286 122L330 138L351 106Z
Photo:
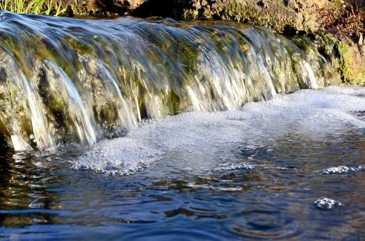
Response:
M137 17L230 20L277 32L316 31L322 23L307 0L65 0L74 15L108 12Z

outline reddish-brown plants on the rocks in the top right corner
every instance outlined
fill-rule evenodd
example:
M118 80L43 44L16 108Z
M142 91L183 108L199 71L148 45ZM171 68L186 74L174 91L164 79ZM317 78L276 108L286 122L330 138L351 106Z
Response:
M365 35L365 0L330 0L319 13L328 31L337 37Z

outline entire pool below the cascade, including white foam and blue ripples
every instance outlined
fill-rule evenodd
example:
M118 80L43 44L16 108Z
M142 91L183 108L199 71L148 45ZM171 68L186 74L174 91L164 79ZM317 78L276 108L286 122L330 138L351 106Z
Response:
M5 240L364 240L365 88L1 157Z

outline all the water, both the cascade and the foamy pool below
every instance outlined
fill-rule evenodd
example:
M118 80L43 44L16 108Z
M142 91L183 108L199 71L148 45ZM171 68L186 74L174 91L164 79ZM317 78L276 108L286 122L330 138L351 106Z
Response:
M365 88L292 40L1 11L0 238L363 240Z

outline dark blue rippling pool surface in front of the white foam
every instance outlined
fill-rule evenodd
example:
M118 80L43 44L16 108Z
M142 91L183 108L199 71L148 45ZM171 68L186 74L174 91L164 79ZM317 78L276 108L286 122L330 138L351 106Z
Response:
M54 162L37 165L31 154L7 153L1 166L2 237L360 240L364 171L313 170L365 163L365 146L298 144L306 147L297 154L290 146L259 151L260 165L252 170L195 173L170 169L173 160L163 159L127 177L74 172ZM342 205L321 210L313 203L321 196Z

